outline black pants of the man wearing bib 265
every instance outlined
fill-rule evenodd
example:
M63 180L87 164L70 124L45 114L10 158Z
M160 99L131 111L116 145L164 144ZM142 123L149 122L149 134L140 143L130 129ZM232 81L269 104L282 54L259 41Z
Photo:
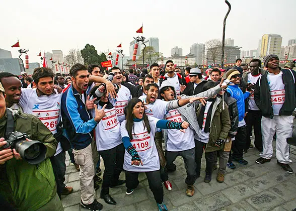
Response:
M50 158L51 165L53 168L53 173L55 176L55 182L56 182L56 192L59 196L61 197L61 192L66 186L64 184L65 181L65 173L66 173L66 164L65 164L65 159L66 159L66 153L64 151L60 152L56 156L52 156Z

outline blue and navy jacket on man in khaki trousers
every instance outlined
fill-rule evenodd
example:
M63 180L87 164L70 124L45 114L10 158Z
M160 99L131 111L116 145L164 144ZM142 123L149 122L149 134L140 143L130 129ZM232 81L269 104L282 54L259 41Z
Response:
M82 95L70 85L64 90L61 98L63 128L72 148L78 150L84 149L92 143L91 133L98 124L94 119L91 119L85 105L87 95L86 93L83 95L84 101Z

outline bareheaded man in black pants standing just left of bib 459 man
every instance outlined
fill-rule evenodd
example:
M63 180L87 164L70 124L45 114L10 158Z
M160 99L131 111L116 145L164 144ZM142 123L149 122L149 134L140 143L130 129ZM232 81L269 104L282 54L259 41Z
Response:
M257 80L263 75L266 71L261 69L261 61L259 59L253 59L250 62L250 71L247 71L243 74L243 80L247 84L247 87L254 90L255 84ZM251 146L251 138L252 130L254 128L254 136L255 136L255 147L262 152L262 134L261 134L261 118L262 113L260 109L257 107L254 100L254 93L248 98L248 113L245 117L245 122L247 125L247 141L244 149L244 153L248 153L248 149Z

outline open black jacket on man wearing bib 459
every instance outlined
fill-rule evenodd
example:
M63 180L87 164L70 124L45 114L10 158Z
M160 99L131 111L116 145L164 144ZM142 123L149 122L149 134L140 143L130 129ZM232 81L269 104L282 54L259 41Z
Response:
M285 86L285 101L279 110L279 116L290 116L296 107L296 73L288 69L279 69L282 71L282 81ZM271 103L270 89L267 81L266 71L255 85L254 100L258 108L262 111L264 117L273 119L273 109Z

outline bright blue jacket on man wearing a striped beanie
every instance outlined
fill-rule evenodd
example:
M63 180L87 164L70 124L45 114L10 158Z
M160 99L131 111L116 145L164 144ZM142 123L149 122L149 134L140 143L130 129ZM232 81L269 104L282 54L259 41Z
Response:
M250 96L250 92L246 91L243 93L239 85L229 85L227 91L232 97L237 100L238 111L239 111L239 122L243 121L245 117L245 99Z

